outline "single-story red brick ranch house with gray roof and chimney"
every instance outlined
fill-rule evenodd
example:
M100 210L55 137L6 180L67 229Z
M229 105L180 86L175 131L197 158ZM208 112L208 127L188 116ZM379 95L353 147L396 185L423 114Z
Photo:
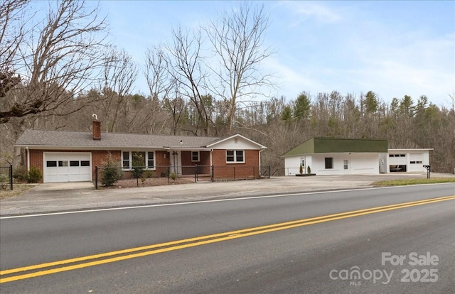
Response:
M194 175L198 165L198 173L216 173L217 178L259 178L261 151L267 148L240 134L215 138L102 133L97 119L92 132L26 129L15 146L21 148L27 170L41 170L43 183L93 181L95 166L101 167L109 154L126 173L135 158L156 177L166 171Z

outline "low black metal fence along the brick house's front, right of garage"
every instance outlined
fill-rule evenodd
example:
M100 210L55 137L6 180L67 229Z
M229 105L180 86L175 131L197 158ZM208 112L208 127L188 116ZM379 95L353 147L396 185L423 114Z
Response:
M165 178L168 184L173 183L178 178L194 179L194 182L270 178L270 166L161 165L155 166L154 170L149 170L145 166L128 170L121 167L95 166L96 189L102 185L102 177L106 177L106 172L111 175L114 173L116 180L135 179L137 187L147 178Z

